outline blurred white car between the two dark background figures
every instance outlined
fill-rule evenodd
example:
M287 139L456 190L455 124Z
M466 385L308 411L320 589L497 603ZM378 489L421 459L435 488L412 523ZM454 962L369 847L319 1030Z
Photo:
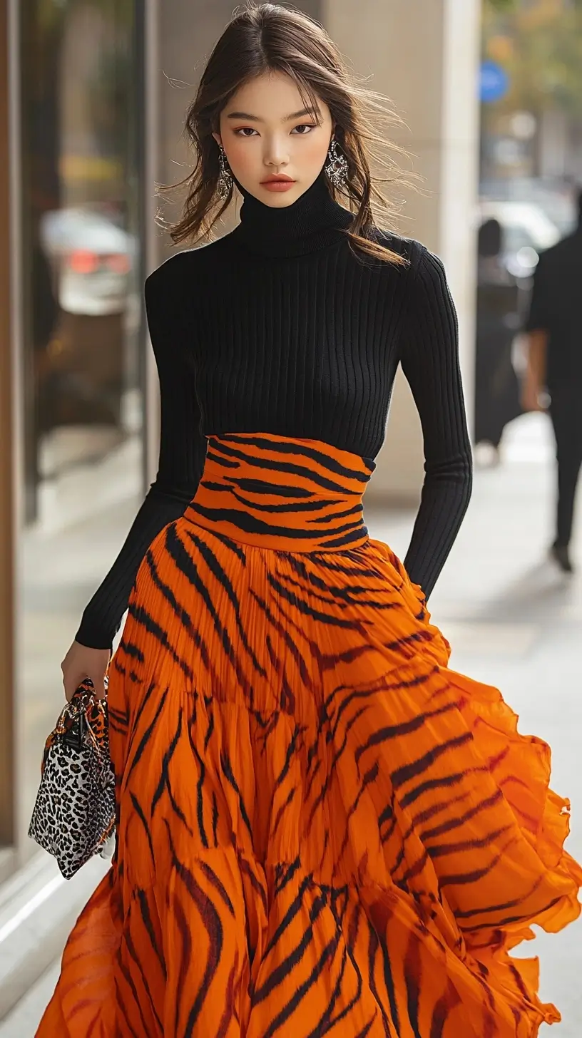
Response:
M482 199L479 219L495 219L501 224L502 258L513 277L531 277L539 253L555 245L560 238L556 224L535 202Z

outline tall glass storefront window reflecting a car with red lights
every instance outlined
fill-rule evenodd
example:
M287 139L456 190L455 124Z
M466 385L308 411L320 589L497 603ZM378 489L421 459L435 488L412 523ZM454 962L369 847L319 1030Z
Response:
M21 0L21 832L59 663L142 493L142 5Z

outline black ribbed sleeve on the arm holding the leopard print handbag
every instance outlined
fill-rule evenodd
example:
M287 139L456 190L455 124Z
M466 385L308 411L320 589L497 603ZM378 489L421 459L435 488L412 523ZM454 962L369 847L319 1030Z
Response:
M83 612L76 640L94 649L111 647L139 564L160 530L184 513L204 468L206 439L200 431L194 375L185 349L192 328L174 268L170 260L146 282L148 325L160 382L158 473L120 554Z

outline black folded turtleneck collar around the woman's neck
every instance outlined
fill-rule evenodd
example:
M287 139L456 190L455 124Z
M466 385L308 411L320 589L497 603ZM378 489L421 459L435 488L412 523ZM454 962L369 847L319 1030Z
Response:
M296 201L283 209L265 206L237 186L244 201L235 235L252 252L305 255L339 242L353 219L332 198L323 172Z

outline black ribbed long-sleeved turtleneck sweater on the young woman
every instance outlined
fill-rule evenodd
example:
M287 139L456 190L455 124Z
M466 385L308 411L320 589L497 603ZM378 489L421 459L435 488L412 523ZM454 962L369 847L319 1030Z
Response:
M84 610L77 640L109 648L140 561L194 496L206 435L317 439L372 460L402 364L422 422L425 481L404 564L428 596L471 493L453 303L422 245L376 233L407 261L354 253L324 176L292 206L245 195L241 223L146 282L161 395L159 470Z

